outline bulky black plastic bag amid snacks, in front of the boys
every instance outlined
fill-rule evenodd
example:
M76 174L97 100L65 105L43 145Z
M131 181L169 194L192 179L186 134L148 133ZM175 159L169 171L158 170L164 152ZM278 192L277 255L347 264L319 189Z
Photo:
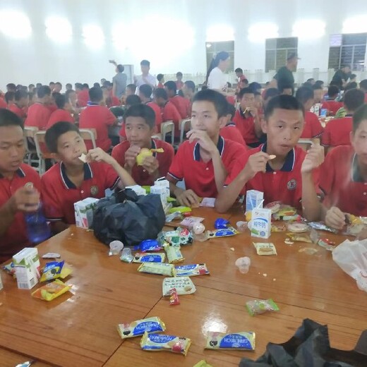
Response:
M156 239L165 215L160 195L136 195L131 189L101 199L93 213L92 229L101 242L119 240L133 246L145 239Z

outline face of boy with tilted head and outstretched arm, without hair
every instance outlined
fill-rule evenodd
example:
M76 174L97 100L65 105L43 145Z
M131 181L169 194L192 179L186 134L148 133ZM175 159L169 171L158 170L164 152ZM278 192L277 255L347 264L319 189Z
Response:
M71 166L83 166L83 162L79 160L82 153L87 153L87 147L76 131L68 131L57 139L57 153L54 153L56 160Z

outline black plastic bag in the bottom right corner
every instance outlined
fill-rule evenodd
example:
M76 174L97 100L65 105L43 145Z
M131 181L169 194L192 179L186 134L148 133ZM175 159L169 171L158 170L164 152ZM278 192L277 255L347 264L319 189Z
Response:
M366 367L367 330L353 351L330 347L326 325L303 320L301 327L284 344L267 344L257 361L243 358L239 367Z

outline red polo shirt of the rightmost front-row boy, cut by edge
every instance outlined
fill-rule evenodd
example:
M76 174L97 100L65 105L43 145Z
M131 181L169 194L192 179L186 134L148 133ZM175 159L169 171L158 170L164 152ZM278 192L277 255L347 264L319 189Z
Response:
M320 188L327 207L367 216L367 182L363 181L353 147L342 145L327 153L320 175Z

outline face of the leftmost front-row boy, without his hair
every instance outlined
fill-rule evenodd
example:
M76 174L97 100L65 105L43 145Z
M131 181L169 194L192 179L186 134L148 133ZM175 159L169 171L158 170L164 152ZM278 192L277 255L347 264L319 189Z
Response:
M23 130L20 126L0 127L0 173L16 172L25 154Z

